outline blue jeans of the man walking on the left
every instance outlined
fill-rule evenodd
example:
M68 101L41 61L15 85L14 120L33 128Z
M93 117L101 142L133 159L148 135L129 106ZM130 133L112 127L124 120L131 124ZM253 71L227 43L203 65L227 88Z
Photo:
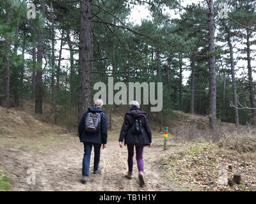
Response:
M83 176L89 175L92 146L94 148L93 170L97 170L99 168L101 144L100 143L92 143L92 142L84 142L84 158L83 158L83 169L82 169Z

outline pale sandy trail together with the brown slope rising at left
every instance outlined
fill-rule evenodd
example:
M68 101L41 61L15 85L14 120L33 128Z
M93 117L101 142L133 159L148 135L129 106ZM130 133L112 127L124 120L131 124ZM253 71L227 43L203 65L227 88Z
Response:
M0 107L0 170L10 177L11 191L180 191L168 181L160 158L172 154L184 145L163 151L153 138L154 145L145 147L145 187L140 187L134 156L134 179L125 179L127 149L118 146L118 135L109 133L108 146L101 150L102 172L94 175L93 150L90 176L81 184L83 143L76 133L40 122L26 112ZM29 184L35 172L35 185Z

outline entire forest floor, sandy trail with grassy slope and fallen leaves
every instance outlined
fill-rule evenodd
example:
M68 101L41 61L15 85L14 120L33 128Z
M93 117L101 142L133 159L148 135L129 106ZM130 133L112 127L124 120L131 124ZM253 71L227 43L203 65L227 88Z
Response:
M152 147L144 149L146 185L140 187L135 156L134 179L124 178L127 149L118 146L115 126L122 122L113 117L116 129L109 131L108 146L101 150L102 172L92 173L92 151L90 176L81 184L83 143L76 131L22 110L0 106L0 115L0 191L256 191L255 136L239 143L236 139L233 145L221 143L225 149L218 143L178 142L170 133L163 151L163 135L154 133ZM189 129L185 125L180 129ZM248 151L237 152L244 148ZM35 185L29 184L33 172ZM241 174L242 182L228 186L234 173Z

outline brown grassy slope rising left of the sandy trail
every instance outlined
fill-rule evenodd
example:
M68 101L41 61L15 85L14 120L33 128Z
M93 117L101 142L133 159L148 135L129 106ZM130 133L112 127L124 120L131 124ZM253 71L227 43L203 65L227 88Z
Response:
M21 147L58 145L72 141L74 137L76 137L74 133L70 134L67 129L50 122L42 122L40 117L36 117L33 113L0 106L1 145Z

